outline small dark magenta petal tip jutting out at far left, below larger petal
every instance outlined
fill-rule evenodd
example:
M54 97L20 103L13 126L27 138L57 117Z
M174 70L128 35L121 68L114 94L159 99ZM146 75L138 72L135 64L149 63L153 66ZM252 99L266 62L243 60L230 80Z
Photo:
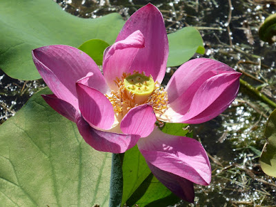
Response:
M66 119L75 122L75 116L77 115L77 110L68 102L63 101L62 99L57 98L55 95L41 95L43 99L52 107L55 111L57 111Z

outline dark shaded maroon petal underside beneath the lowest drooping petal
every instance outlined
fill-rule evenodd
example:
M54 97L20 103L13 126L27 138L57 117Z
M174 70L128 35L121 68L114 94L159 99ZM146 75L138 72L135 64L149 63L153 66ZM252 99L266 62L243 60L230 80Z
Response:
M166 172L164 170L160 170L159 168L152 166L152 164L148 163L148 167L155 177L166 186L172 193L175 193L181 199L193 203L195 199L195 191L193 182L185 179L183 177L179 177L170 172Z

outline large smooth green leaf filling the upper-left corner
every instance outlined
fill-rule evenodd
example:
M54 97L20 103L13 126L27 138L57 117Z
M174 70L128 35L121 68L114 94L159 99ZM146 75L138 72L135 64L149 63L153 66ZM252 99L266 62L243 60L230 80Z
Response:
M117 13L81 19L52 0L0 1L0 68L16 79L39 79L32 49L55 44L77 48L89 39L111 44L123 25Z

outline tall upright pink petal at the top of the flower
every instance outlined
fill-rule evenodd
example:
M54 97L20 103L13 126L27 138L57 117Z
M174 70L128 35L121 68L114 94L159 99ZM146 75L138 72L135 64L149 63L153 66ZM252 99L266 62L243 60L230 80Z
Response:
M147 76L152 75L155 81L161 83L168 59L168 37L161 12L150 3L140 8L126 21L116 41L126 39L136 30L144 35L146 46L137 53L130 72L144 71Z

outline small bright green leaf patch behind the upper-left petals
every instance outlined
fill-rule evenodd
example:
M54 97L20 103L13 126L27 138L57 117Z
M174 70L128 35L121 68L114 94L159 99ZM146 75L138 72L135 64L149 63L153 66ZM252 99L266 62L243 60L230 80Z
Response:
M98 66L103 63L103 51L109 46L108 43L101 39L90 39L79 46L79 50L86 52Z

